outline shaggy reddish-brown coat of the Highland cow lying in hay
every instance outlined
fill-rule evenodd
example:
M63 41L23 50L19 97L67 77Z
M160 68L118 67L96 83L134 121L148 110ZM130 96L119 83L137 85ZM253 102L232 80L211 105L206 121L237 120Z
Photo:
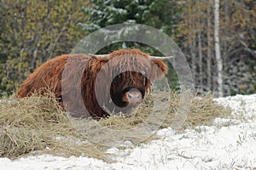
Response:
M137 89L143 98L151 82L166 72L161 59L149 59L136 48L114 51L109 59L64 54L38 67L20 85L17 95L26 97L48 88L60 99L60 105L77 117L108 116L108 111L130 113L136 105L129 105L127 92Z

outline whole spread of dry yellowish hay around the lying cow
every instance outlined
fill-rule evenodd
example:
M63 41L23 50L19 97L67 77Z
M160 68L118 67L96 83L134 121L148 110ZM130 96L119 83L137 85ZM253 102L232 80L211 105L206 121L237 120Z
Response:
M168 99L161 92L148 95L134 116L109 116L99 121L69 117L50 93L0 99L0 156L16 158L49 153L110 161L105 151L113 144L147 142L157 139L152 131L173 126L182 99L180 93L168 94ZM211 125L215 117L230 116L230 110L217 105L211 94L201 98L193 94L190 104L180 130ZM167 112L160 117L162 111Z

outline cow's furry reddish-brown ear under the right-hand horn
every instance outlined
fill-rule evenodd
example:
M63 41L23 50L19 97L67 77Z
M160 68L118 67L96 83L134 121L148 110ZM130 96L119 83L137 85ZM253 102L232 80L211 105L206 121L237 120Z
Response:
M150 59L151 69L150 69L150 80L155 82L165 77L168 67L162 59Z

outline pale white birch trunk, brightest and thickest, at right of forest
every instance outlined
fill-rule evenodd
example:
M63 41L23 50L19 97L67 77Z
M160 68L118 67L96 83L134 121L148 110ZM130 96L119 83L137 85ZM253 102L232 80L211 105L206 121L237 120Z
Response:
M219 0L215 0L214 4L214 41L215 41L215 57L217 62L217 82L218 82L218 97L223 96L223 62L219 48Z

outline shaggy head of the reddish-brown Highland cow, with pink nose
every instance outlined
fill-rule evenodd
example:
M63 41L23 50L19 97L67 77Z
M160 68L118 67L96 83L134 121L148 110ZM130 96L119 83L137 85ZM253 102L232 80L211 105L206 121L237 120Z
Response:
M105 111L121 111L125 115L130 115L132 109L143 102L151 83L167 72L162 59L150 58L138 49L115 51L108 54L108 59L97 58L96 65L93 75L96 75L98 104Z

